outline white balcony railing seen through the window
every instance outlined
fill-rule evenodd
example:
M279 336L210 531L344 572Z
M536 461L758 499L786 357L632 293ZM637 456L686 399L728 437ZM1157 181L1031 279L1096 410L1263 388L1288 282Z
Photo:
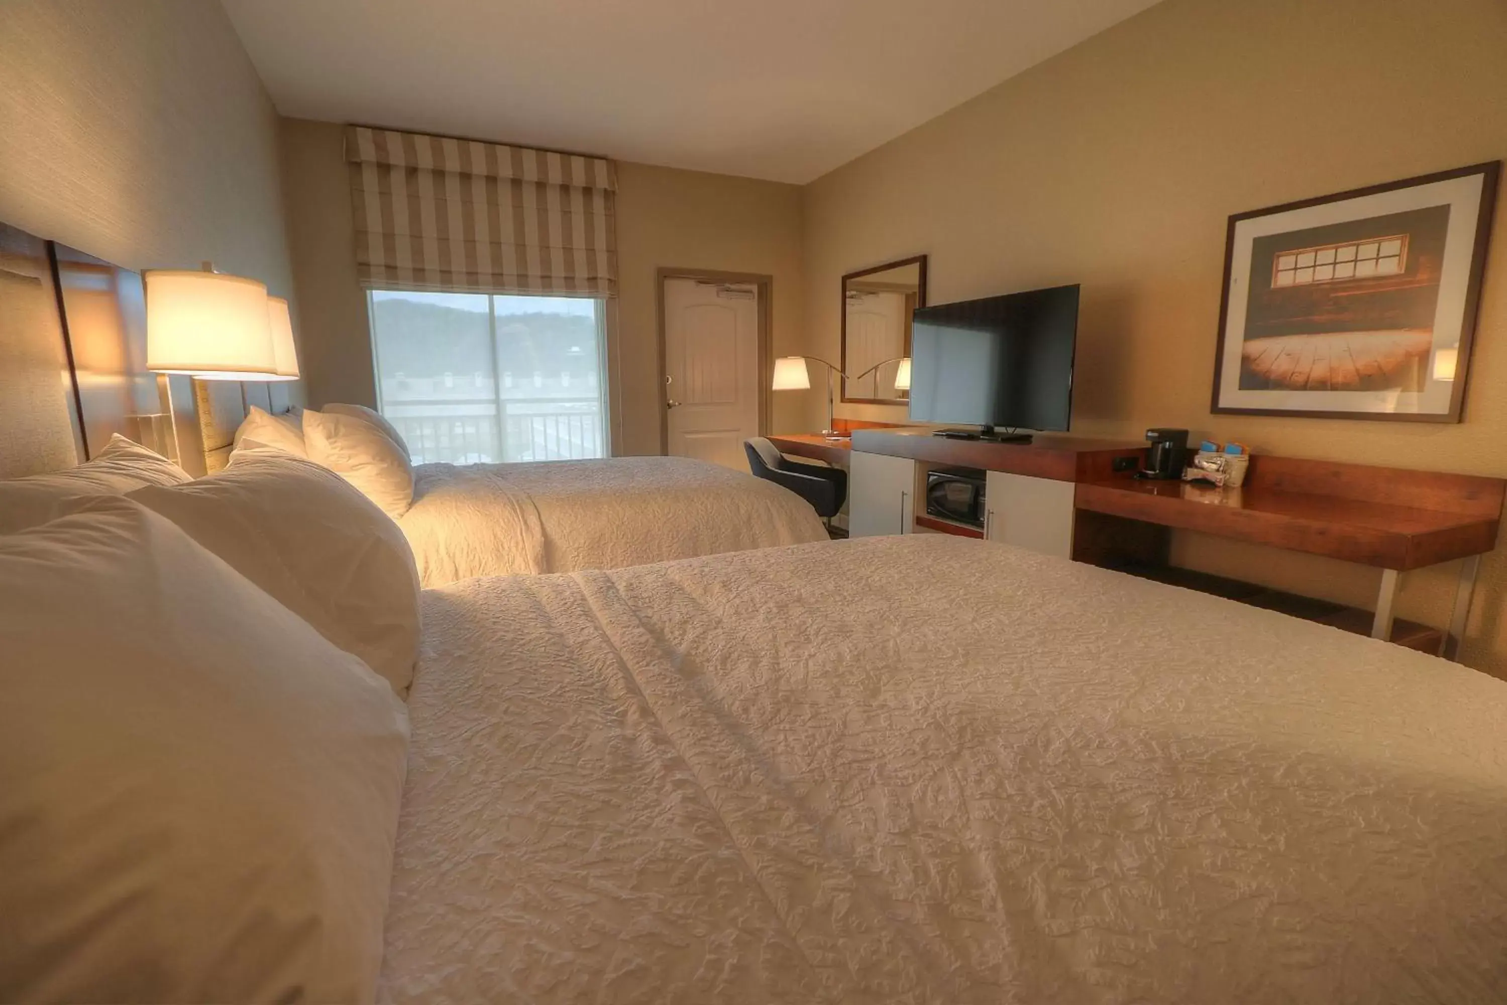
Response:
M606 455L598 398L404 401L390 402L383 414L407 440L414 464L573 461Z

